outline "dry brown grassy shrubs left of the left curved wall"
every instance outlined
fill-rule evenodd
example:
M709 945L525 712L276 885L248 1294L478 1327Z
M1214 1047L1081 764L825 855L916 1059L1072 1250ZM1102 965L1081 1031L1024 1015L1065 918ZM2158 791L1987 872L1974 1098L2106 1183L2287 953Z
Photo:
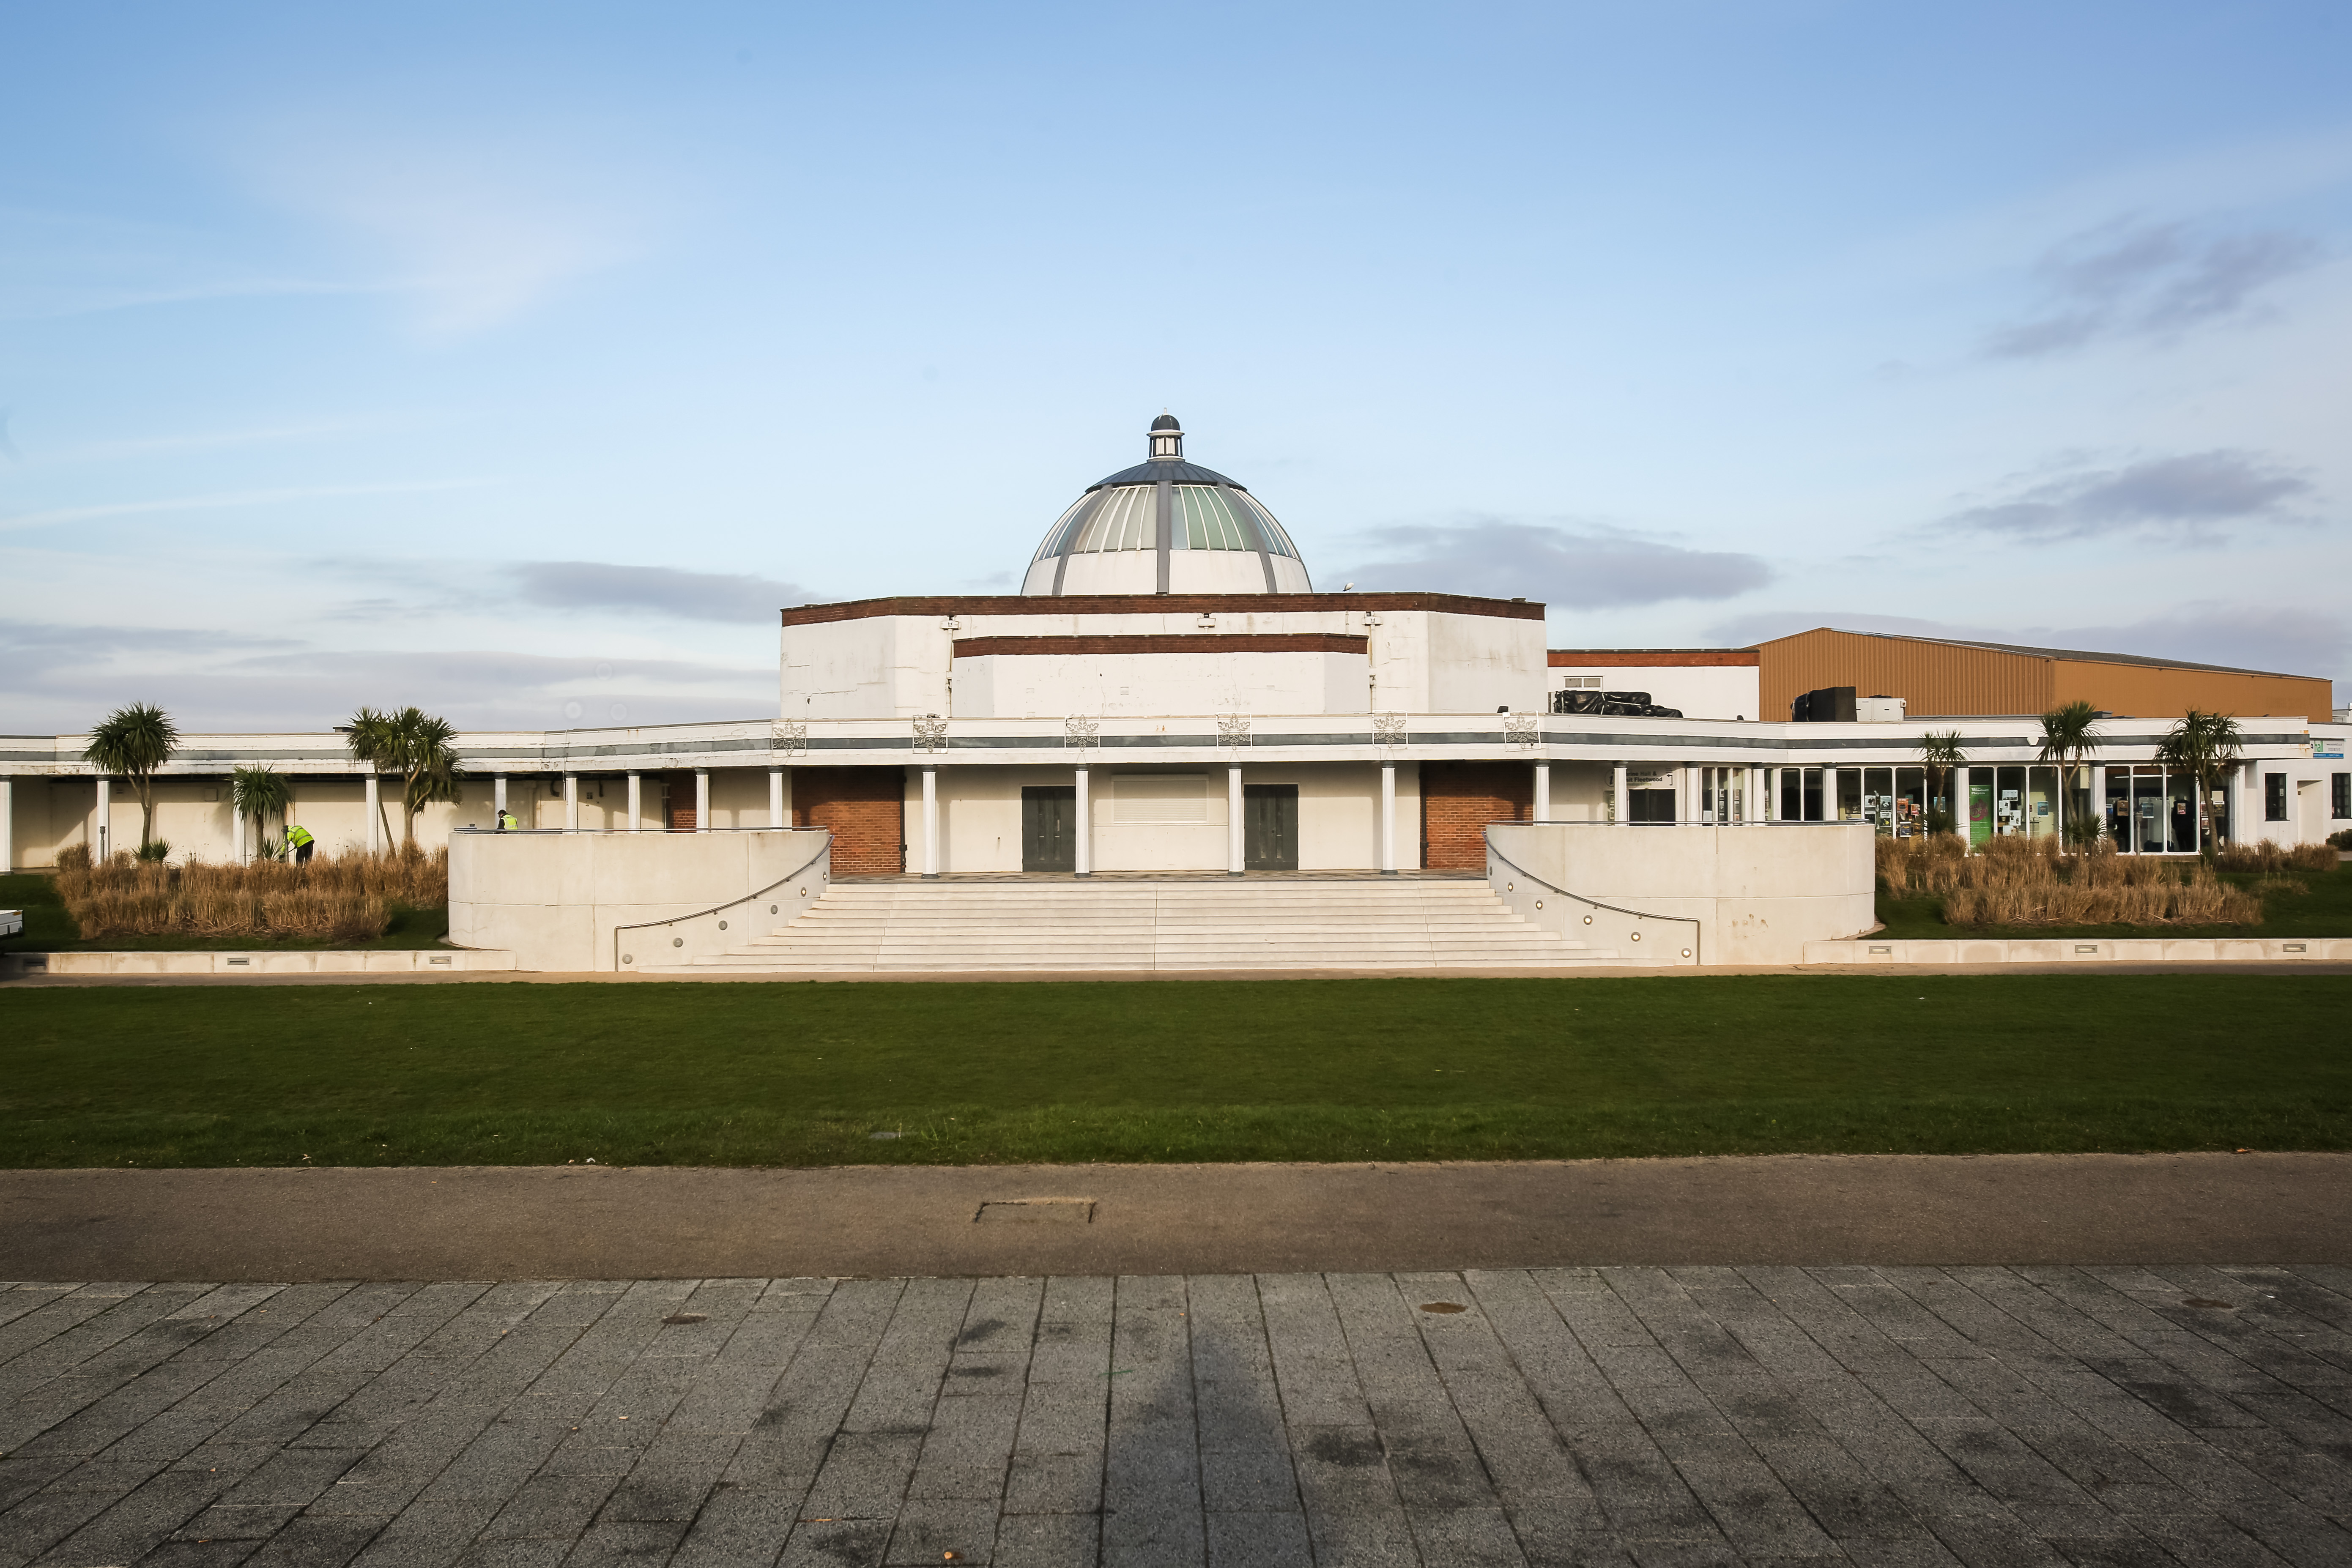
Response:
M75 844L56 856L56 893L85 938L242 936L355 943L383 936L393 905L449 903L449 851L405 844L339 860L254 865L94 865Z

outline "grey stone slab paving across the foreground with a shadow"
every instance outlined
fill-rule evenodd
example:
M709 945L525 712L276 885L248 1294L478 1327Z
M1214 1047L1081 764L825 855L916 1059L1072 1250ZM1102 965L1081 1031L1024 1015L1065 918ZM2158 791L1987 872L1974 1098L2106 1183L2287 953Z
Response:
M2347 1523L2326 1265L0 1284L0 1568L2343 1568Z

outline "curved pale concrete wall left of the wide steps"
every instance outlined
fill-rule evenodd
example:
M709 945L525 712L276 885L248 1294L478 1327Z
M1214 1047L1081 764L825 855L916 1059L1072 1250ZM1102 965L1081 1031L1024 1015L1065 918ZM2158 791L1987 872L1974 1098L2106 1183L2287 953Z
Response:
M675 922L644 943L659 943L663 964L680 964L793 919L781 905L823 893L830 842L823 827L454 832L449 940L510 950L517 969L586 973L621 966L616 931ZM779 912L748 907L757 893L774 893ZM630 957L649 964L654 947Z

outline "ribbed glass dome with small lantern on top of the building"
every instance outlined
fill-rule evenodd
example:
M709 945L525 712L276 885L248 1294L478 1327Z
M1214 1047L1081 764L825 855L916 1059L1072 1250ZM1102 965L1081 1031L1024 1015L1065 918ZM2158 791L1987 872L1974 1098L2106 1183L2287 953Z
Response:
M1183 430L1152 421L1150 458L1098 480L1030 557L1025 595L1312 592L1298 545L1225 475L1183 461Z

